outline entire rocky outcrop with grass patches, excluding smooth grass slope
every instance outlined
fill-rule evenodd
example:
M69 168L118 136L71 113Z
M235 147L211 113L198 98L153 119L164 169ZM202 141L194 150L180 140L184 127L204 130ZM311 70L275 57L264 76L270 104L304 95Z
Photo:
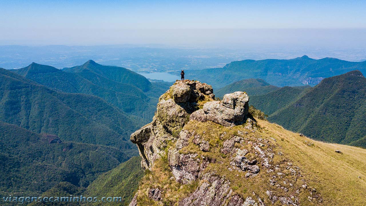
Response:
M272 143L255 136L258 128L255 119L248 115L248 102L249 97L244 92L227 94L223 100L215 101L212 87L199 81L177 81L172 85L160 97L152 123L131 135L131 141L137 144L142 157L142 167L153 171L146 181L154 176L154 162L164 159L158 163L164 165L158 173L166 175L163 181L167 183L156 180L146 183L147 186L138 193L142 199L145 198L145 205L153 201L156 205L264 206L264 198L267 203L299 205L296 192L307 190L301 186L305 180L300 185L298 183L300 168L287 161L273 164L275 152ZM212 122L212 125L207 122ZM200 125L216 130L198 132ZM198 130L189 129L191 126ZM227 132L218 133L220 129ZM216 139L210 139L212 136ZM272 141L276 139L272 138ZM276 154L283 155L281 152ZM228 176L235 173L236 176L229 179L223 173ZM264 193L238 192L241 183L238 184L236 178L245 182L261 175L269 177L265 180L268 187ZM232 186L234 182L235 187ZM169 189L172 184L175 186ZM190 190L179 198L175 195L180 194L169 191L183 191L184 188ZM139 205L138 194L130 206ZM165 199L169 195L171 198ZM316 195L309 197L318 198Z

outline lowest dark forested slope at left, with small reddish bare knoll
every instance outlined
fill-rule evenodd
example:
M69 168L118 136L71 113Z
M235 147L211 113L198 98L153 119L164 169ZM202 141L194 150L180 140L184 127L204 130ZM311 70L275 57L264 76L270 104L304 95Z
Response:
M113 147L62 141L1 121L0 151L0 192L14 196L40 195L61 181L87 187L130 158Z

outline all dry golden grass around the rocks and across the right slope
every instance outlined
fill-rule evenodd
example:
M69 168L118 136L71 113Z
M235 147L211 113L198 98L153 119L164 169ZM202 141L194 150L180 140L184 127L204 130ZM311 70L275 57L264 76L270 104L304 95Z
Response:
M206 172L214 171L220 176L225 176L231 182L233 194L240 194L243 197L257 194L262 198L266 205L272 205L266 195L266 190L273 191L277 196L289 196L295 194L299 199L300 205L366 205L366 150L340 144L328 144L320 141L311 140L307 137L301 137L297 133L283 129L281 126L271 124L267 121L258 120L259 129L252 133L243 126L235 126L233 128L224 127L213 122L197 122L189 121L184 129L199 134L202 139L209 141L210 151L203 152L199 147L193 144L193 137L189 140L189 145L184 147L180 152L197 153L198 157L205 156L215 159L214 163L210 163L205 169ZM270 162L272 165L280 165L285 174L283 180L290 180L294 185L288 187L288 192L277 188L276 185L269 184L272 175L276 175L277 171L266 172L266 168L260 166L261 172L255 177L245 178L245 172L237 170L229 171L229 162L231 155L223 155L220 149L223 142L227 139L238 135L238 130L249 132L243 136L247 141L255 141L257 138L267 139L269 142L263 147L271 148L275 157ZM273 140L272 138L276 139ZM310 145L310 146L309 146ZM169 144L171 149L174 144ZM255 158L255 152L250 144L235 144L249 151L247 158ZM336 153L340 150L343 154ZM283 155L277 155L277 152ZM295 179L285 167L291 162L294 166L300 168L302 177ZM260 165L260 164L258 164ZM361 179L358 178L361 176ZM138 195L138 205L158 205L158 202L151 201L148 198L149 188L162 188L164 190L164 202L160 205L178 205L178 201L191 194L199 185L200 181L192 184L183 185L177 183L169 170L167 156L162 156L153 166L152 172L148 172L141 181ZM323 201L320 203L316 199L308 200L309 190L300 189L300 194L296 190L306 182L308 188L316 188L317 194L320 194ZM279 181L280 182L280 181ZM281 185L283 185L281 183ZM281 205L279 201L275 205Z

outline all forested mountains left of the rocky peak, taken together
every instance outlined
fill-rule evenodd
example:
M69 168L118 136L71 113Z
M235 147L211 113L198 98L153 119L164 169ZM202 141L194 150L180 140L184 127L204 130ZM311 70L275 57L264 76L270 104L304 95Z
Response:
M84 191L137 155L128 138L150 121L169 88L92 60L63 70L37 63L0 68L0 83L0 191L32 196Z

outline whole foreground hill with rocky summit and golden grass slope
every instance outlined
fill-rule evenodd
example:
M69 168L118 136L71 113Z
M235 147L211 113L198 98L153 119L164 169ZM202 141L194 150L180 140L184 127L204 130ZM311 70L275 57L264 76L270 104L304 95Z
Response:
M222 101L211 92L200 82L177 82L161 96L153 122L131 135L148 172L130 206L364 203L366 150L255 119L244 92Z

